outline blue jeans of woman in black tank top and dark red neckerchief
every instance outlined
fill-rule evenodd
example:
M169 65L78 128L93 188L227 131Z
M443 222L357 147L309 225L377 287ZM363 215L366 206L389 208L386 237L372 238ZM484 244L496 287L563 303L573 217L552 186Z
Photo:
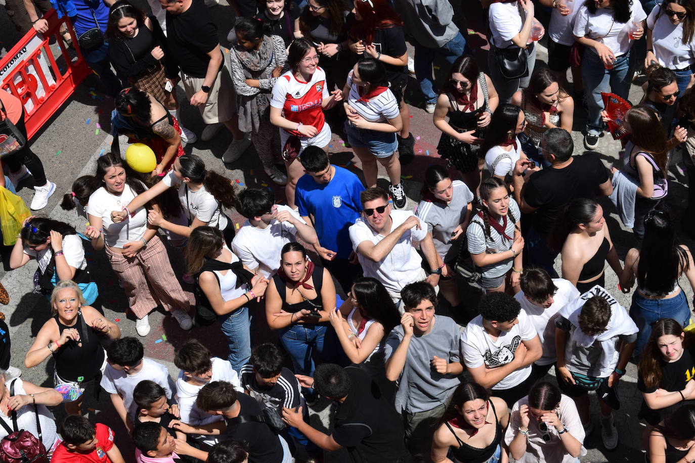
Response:
M313 355L322 354L327 328L327 323L309 325L297 323L279 330L280 342L290 354L295 373L298 375L313 375L315 367Z

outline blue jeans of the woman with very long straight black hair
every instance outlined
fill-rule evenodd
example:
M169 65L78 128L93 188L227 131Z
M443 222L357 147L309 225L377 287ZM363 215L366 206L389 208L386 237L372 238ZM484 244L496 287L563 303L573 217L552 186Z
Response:
M669 299L648 299L635 291L635 294L632 294L630 317L635 320L637 328L639 328L635 353L633 354L637 355L651 336L652 323L660 319L674 319L683 327L688 326L690 308L682 289L678 296Z

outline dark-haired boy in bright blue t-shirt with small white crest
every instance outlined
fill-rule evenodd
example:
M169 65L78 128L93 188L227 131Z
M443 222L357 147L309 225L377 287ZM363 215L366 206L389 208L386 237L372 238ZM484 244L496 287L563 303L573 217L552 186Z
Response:
M307 146L300 162L306 174L297 181L295 203L304 221L316 228L318 242L313 247L323 266L347 293L362 274L360 265L350 262L353 256L348 229L362 210L359 194L364 187L351 171L332 165L318 146Z

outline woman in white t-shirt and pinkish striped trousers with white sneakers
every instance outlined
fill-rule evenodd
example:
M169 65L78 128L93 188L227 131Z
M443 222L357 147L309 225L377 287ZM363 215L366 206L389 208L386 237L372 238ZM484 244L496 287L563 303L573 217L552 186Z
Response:
M149 333L148 314L159 301L172 314L183 330L190 330L188 298L174 275L164 244L156 226L147 225L145 207L129 208L129 204L147 187L116 153L97 159L95 179L100 187L87 205L89 226L85 235L92 247L104 249L111 268L118 276L133 314L138 318L138 335ZM126 210L125 220L115 223L111 211ZM148 285L149 283L149 285Z

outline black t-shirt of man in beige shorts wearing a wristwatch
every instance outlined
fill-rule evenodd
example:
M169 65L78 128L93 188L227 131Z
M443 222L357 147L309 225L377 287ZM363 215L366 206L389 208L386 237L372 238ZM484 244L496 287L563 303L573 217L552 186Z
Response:
M207 53L219 47L220 39L204 2L194 1L179 15L167 12L167 44L172 60L184 74L205 77L210 62Z

